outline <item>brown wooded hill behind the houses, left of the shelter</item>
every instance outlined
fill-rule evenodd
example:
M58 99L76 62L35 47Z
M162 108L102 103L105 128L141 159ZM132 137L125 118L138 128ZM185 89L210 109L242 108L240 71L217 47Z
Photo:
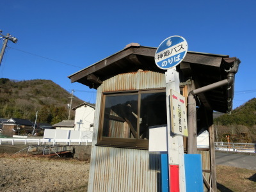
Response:
M13 81L0 79L0 118L25 118L38 122L56 124L68 119L67 104L70 93L51 80L35 79ZM72 108L82 104L83 100L74 97ZM70 120L74 119L71 110Z

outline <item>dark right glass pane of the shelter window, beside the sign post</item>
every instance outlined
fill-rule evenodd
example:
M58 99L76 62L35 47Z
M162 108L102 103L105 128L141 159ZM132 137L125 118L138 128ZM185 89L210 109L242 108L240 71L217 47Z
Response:
M148 139L149 126L167 124L166 94L142 93L140 108L140 139Z

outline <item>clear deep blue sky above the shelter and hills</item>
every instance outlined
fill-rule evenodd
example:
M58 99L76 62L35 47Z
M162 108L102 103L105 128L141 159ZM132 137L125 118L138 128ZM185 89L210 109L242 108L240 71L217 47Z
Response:
M236 56L234 108L256 95L256 1L82 1L1 2L0 29L8 42L0 77L51 79L86 102L95 90L67 76L131 42L158 47L168 36L186 38L188 50Z

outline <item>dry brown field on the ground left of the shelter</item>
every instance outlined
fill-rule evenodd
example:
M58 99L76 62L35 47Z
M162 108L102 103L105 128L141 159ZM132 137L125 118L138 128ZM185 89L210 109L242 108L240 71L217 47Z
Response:
M0 191L87 191L90 163L0 154Z

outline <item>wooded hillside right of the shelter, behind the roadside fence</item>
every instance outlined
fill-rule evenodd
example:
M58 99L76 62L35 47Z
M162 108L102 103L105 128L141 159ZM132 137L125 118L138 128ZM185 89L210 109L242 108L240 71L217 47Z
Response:
M234 109L231 115L214 119L216 140L241 143L256 143L256 98Z

